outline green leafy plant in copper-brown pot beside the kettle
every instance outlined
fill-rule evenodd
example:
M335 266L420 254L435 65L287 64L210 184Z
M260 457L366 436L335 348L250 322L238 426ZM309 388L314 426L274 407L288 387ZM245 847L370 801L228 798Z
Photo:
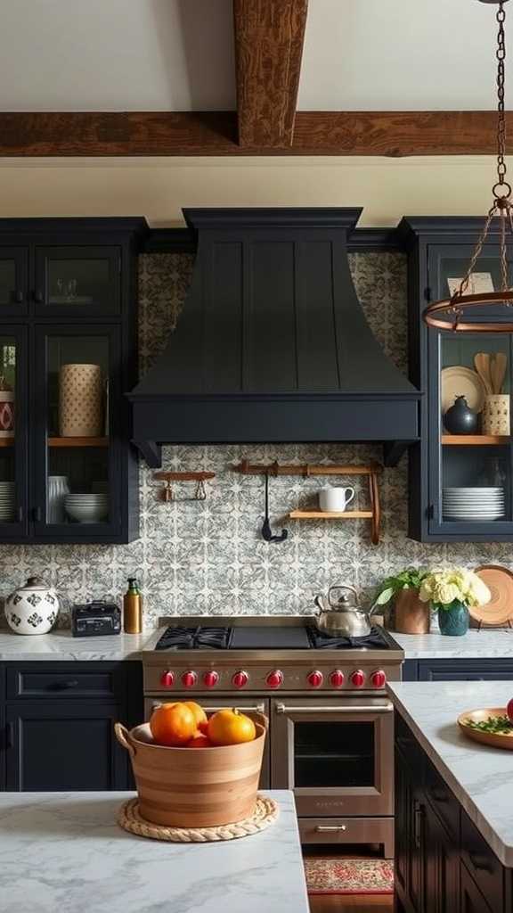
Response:
M394 631L400 634L427 634L429 607L419 599L419 591L427 571L425 568L404 568L387 577L378 590L375 605L386 605L393 599Z

